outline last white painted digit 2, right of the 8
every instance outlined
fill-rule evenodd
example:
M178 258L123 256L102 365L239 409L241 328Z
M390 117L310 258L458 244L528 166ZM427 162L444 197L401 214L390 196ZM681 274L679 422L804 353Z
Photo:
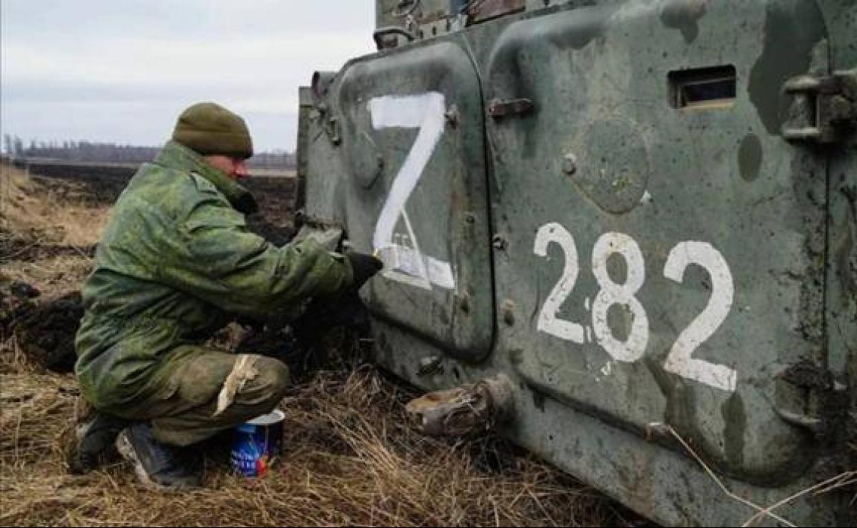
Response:
M711 297L702 313L675 340L663 368L718 389L734 391L737 377L734 369L691 357L693 351L714 334L732 307L732 274L729 273L726 260L713 246L707 242L686 240L669 252L667 264L663 266L663 276L681 282L689 264L698 264L708 271L711 276Z

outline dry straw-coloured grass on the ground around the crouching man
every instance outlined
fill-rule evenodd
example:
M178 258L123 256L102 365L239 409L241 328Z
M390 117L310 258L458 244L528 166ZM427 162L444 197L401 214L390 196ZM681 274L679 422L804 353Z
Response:
M8 168L3 167L4 171ZM57 199L36 179L3 178L7 234L57 233L53 244L88 245L107 210ZM67 193L65 195L68 195ZM41 240L37 240L41 241ZM9 262L7 280L35 283L43 297L80 288L85 255ZM226 343L234 341L227 335ZM631 525L638 519L564 473L496 436L445 442L408 428L410 389L345 359L296 384L284 454L264 478L230 471L228 444L207 446L203 489L146 489L115 462L87 475L67 471L78 391L0 336L0 525ZM342 350L340 341L339 350ZM345 347L347 349L348 347ZM632 520L628 520L632 519Z

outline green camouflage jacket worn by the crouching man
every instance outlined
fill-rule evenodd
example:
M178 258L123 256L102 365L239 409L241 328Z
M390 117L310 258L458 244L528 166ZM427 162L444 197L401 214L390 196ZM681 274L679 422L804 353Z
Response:
M351 284L351 266L313 240L273 246L249 232L255 200L169 142L129 181L83 287L75 372L94 406L133 415L232 317L265 320ZM174 378L174 377L173 377ZM119 412L123 411L123 412Z

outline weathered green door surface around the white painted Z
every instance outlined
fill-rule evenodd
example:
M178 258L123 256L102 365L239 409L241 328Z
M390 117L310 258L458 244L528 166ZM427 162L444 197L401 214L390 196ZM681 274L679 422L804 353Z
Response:
M426 290L396 281L373 281L367 288L367 304L378 317L450 346L450 352L460 359L482 359L491 346L494 308L482 101L470 59L448 42L383 58L369 57L352 62L336 81L336 90L339 99L334 104L343 116L344 137L337 149L339 156L310 159L315 171L340 177L320 180L317 173L311 174L309 188L312 193L317 192L314 186L337 189L332 217L346 222L354 248L369 252L375 249L372 237L387 191L418 134L416 126L374 128L369 101L389 94L439 92L449 101L447 107L454 102L458 123L440 117L443 134L431 152L422 185L408 199L405 211L411 226L436 226L421 231L419 247L452 265L458 278L456 288ZM327 139L317 136L318 142ZM310 151L313 148L310 145ZM395 223L396 232L410 238L404 218Z

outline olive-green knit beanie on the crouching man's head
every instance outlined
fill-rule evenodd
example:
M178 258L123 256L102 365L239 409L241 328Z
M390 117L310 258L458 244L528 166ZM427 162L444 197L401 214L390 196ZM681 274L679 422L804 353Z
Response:
M244 120L215 103L197 103L178 116L172 139L203 156L253 156L253 139Z

